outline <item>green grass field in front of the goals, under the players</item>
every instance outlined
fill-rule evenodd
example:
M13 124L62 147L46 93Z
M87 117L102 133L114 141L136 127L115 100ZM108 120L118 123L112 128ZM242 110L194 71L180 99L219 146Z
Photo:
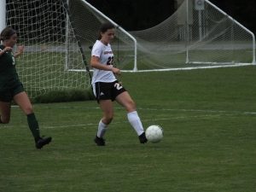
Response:
M253 192L256 67L124 73L143 125L160 143L140 144L118 105L107 146L93 143L95 101L35 104L38 150L19 108L0 126L1 192Z

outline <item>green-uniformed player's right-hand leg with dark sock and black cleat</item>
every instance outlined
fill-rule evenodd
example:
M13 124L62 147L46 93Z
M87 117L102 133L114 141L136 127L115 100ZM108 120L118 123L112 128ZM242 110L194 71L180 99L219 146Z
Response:
M22 91L14 96L14 101L20 106L20 109L26 114L27 124L32 131L32 136L35 139L36 147L42 148L45 144L51 142L51 137L40 137L38 120L33 113L32 103L30 102L25 91Z

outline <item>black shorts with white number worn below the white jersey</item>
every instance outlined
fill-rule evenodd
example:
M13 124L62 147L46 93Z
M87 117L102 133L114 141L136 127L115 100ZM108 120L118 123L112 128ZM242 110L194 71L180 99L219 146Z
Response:
M96 96L97 102L100 100L114 101L119 94L125 91L125 88L117 80L111 83L96 82L93 85L93 93Z

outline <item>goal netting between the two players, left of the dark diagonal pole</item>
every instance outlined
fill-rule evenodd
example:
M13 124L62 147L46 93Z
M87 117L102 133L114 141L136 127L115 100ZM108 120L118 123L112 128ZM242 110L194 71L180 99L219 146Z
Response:
M51 91L90 88L90 74L85 71L64 2L9 0L6 26L17 32L17 44L25 45L16 68L31 98Z

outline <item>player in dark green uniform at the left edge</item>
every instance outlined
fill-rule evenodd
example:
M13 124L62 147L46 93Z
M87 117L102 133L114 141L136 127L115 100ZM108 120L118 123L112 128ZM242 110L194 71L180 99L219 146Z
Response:
M26 114L27 124L32 131L36 148L43 148L51 142L51 137L40 137L38 120L33 113L32 103L15 69L15 58L23 53L24 46L18 46L16 53L12 52L17 43L17 33L10 27L4 28L0 36L0 124L9 123L11 101L14 100Z

